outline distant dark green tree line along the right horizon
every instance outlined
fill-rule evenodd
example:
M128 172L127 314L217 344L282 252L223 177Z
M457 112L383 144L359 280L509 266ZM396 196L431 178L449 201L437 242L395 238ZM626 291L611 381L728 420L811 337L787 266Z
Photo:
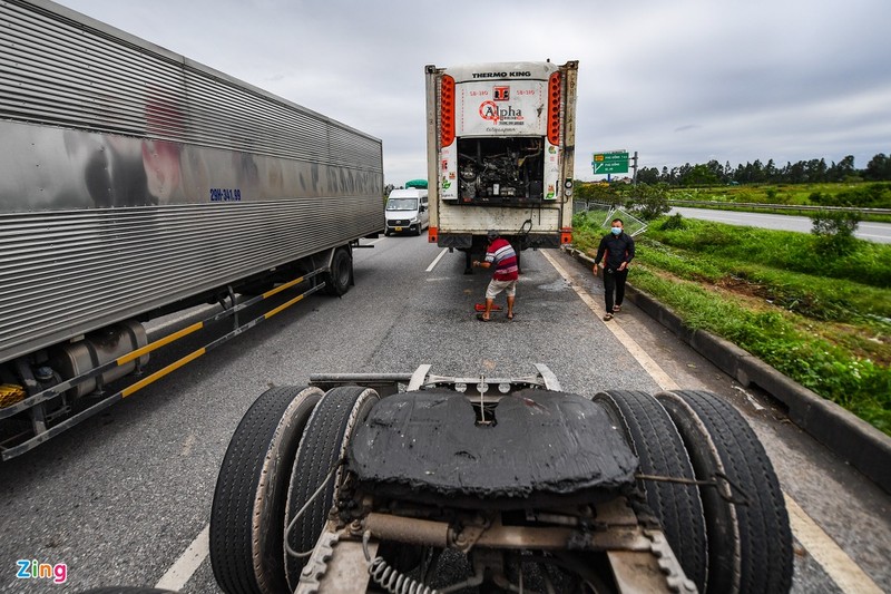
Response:
M854 167L854 157L849 155L839 163L826 165L826 159L800 160L777 167L773 159L766 164L760 159L745 165L724 165L715 159L705 165L681 167L642 167L637 172L638 183L668 184L670 186L714 186L726 184L820 184L832 182L863 181L891 182L891 156L880 153L872 157L865 169Z

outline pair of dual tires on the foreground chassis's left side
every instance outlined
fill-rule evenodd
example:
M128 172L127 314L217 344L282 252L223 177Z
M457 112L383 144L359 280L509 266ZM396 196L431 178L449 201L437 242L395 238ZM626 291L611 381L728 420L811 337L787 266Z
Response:
M210 512L210 565L228 594L293 592L303 559L285 553L285 528L336 468L374 390L272 388L248 409L229 441ZM336 496L327 480L290 533L312 549ZM284 522L283 522L284 519ZM293 582L293 585L291 584Z

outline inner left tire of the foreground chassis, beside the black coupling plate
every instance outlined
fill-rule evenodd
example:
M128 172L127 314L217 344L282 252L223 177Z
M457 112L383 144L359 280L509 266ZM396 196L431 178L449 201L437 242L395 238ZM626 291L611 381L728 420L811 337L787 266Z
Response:
M291 524L337 461L346 456L353 431L378 400L378 392L359 386L333 388L322 397L306 423L294 458L285 526ZM340 478L341 471L337 470L334 479L329 480L322 493L297 519L291 533L285 535L292 549L300 553L313 549L334 505ZM305 562L304 557L285 553L285 573L291 587L288 592L296 590Z

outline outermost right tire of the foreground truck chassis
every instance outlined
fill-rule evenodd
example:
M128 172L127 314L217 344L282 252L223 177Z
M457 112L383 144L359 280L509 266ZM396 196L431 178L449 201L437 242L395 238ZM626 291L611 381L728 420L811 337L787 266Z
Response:
M708 528L708 592L789 592L792 532L770 458L742 415L717 396L695 390L659 392L689 452ZM742 499L741 505L718 491Z

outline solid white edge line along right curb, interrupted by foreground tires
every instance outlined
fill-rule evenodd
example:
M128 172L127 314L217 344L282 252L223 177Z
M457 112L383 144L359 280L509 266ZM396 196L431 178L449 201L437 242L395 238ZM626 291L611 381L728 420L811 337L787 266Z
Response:
M599 318L597 304L591 295L584 289L577 286L566 270L564 270L564 267L560 266L556 260L548 255L546 251L542 250L541 253L557 270L560 276L562 276L576 291L578 296L581 298L581 301L584 301ZM617 318L614 318L611 322L615 322ZM634 339L628 337L624 330L616 332L616 329L620 330L620 327L619 324L611 322L604 323L609 330L613 331L613 333L619 339L626 349L628 345L626 344L621 334L627 337L627 340L634 343L636 349L643 352L640 347L634 341ZM635 350L628 349L628 351L635 357L635 359L637 359L638 356ZM648 354L644 353L644 356L646 359L649 359ZM649 360L652 361L652 359ZM640 359L638 359L638 362L640 362L647 373L649 373L656 383L663 387L663 389L677 389L677 384L675 384L674 380L669 378L665 371L663 371L662 368L655 363L655 361L653 362L653 366L655 366L655 369L658 370L660 376L655 376L653 370L647 364L644 364ZM673 387L666 388L663 386L663 382L673 384ZM872 578L870 578L870 576L860 568L856 562L854 562L854 559L852 559L848 553L845 553L838 544L835 544L835 541L833 541L830 535L823 532L823 529L807 514L804 513L801 506L799 506L799 504L795 503L792 497L785 493L783 493L783 497L785 498L786 510L789 512L789 523L792 527L792 533L795 535L795 538L797 538L802 546L807 549L814 561L816 561L823 567L823 571L826 572L826 575L829 575L830 580L832 580L842 592L851 594L881 594L882 591L878 585L875 585L875 582L873 582Z

